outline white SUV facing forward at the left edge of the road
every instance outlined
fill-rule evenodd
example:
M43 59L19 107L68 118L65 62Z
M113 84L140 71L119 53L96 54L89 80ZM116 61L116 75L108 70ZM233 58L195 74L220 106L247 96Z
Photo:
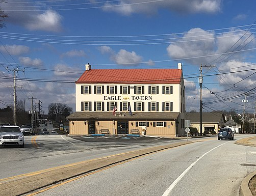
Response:
M0 146L18 145L24 148L24 136L19 126L2 126L0 128Z

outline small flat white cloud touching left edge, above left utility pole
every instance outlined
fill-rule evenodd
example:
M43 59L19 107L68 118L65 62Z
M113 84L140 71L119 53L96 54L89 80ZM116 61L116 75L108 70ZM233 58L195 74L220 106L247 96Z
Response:
M25 54L30 51L30 48L28 46L24 45L1 45L0 51L4 53L10 53L11 55L20 55Z

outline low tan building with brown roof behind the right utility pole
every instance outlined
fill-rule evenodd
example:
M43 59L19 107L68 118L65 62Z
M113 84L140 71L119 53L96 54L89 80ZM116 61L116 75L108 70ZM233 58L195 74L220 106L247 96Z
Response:
M185 119L190 120L191 127L197 128L200 133L200 113L186 113ZM202 133L217 133L224 122L224 115L220 113L202 113Z

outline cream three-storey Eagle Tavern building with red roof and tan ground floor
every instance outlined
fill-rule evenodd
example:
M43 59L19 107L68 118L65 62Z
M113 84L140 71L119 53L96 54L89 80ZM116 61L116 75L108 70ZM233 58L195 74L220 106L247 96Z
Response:
M70 134L184 135L185 86L177 69L91 69L75 82ZM113 112L115 110L115 112Z

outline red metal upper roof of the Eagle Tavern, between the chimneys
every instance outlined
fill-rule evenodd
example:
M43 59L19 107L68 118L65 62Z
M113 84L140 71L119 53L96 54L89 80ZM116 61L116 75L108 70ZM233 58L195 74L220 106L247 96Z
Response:
M180 83L181 69L91 69L75 83Z

